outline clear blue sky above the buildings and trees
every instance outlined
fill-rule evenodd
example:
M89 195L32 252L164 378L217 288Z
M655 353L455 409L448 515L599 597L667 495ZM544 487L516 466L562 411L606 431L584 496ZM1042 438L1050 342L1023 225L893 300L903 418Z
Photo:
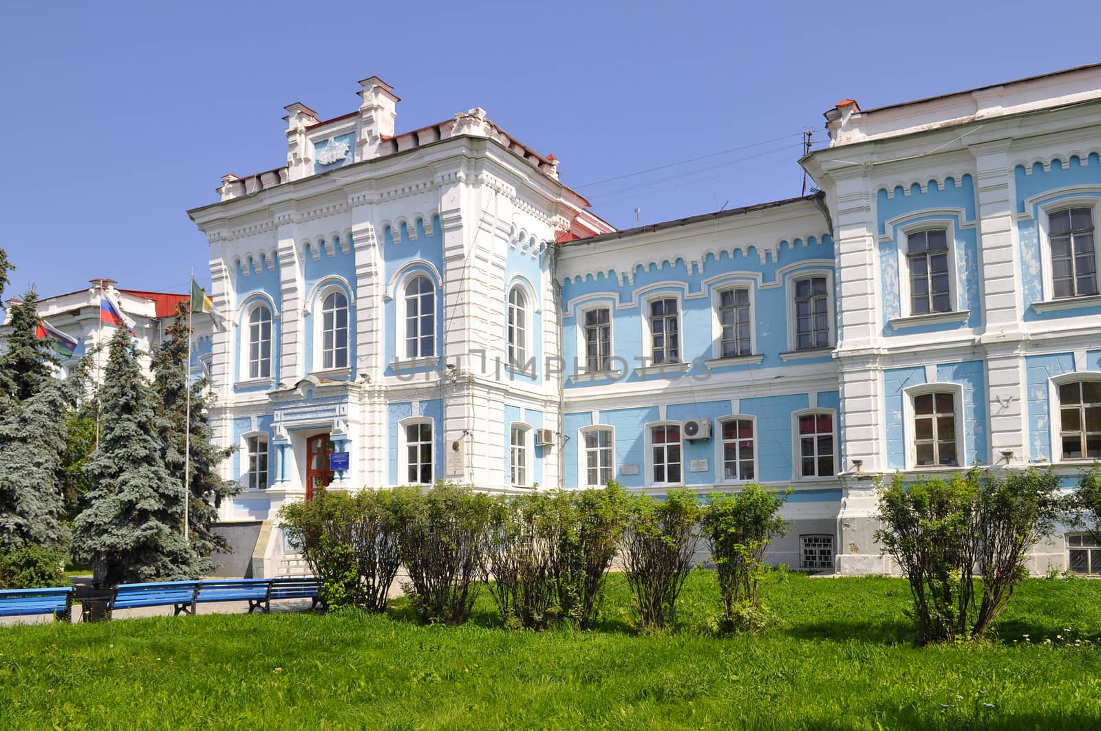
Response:
M799 133L825 141L846 97L1101 61L1097 0L8 2L0 28L9 295L209 282L185 211L224 173L285 163L285 105L352 111L371 75L402 97L399 131L483 107L629 227L636 207L646 223L798 195Z

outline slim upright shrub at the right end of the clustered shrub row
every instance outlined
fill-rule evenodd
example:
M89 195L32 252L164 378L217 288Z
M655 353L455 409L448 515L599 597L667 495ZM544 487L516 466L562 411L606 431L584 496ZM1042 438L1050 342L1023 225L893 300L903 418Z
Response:
M787 522L777 515L785 497L749 484L738 492L712 491L707 498L700 524L719 579L723 632L763 626L767 614L757 588L765 547L787 531Z

